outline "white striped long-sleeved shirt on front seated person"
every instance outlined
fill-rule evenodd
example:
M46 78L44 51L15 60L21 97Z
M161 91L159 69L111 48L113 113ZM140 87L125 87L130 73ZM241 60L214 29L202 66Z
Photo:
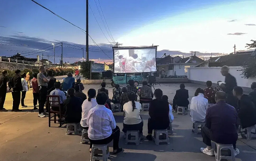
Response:
M108 138L112 135L112 129L116 128L112 111L101 104L89 111L86 124L89 125L88 137L92 140Z

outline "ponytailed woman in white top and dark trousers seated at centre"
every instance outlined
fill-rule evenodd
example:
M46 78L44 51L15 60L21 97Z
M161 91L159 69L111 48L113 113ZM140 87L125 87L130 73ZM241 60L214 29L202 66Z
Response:
M129 92L129 102L124 104L124 138L126 138L127 130L139 130L140 138L143 139L143 121L140 117L141 104L135 101L136 97L134 92Z

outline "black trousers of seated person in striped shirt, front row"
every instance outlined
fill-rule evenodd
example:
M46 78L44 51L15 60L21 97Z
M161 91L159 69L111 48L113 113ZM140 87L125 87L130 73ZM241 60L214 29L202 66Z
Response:
M113 140L113 149L118 150L119 137L120 137L120 128L116 126L116 128L112 130L112 135L108 138L104 138L100 140L92 140L89 138L90 148L92 148L93 144L98 144L98 145L108 144Z

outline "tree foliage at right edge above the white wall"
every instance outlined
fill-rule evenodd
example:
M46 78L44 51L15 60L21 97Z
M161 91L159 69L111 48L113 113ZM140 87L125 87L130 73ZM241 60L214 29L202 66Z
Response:
M251 40L252 44L246 44L248 49L256 48L256 41ZM256 52L256 51L254 51ZM244 78L250 78L256 76L256 54L252 54L246 62L244 62L243 69L241 69Z

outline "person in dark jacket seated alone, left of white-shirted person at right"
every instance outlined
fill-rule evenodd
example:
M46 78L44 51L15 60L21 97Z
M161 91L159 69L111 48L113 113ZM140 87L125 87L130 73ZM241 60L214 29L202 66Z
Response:
M173 100L173 109L176 111L176 105L187 107L189 104L188 101L188 90L185 89L185 84L180 84L180 89L176 91L176 94L174 96Z

